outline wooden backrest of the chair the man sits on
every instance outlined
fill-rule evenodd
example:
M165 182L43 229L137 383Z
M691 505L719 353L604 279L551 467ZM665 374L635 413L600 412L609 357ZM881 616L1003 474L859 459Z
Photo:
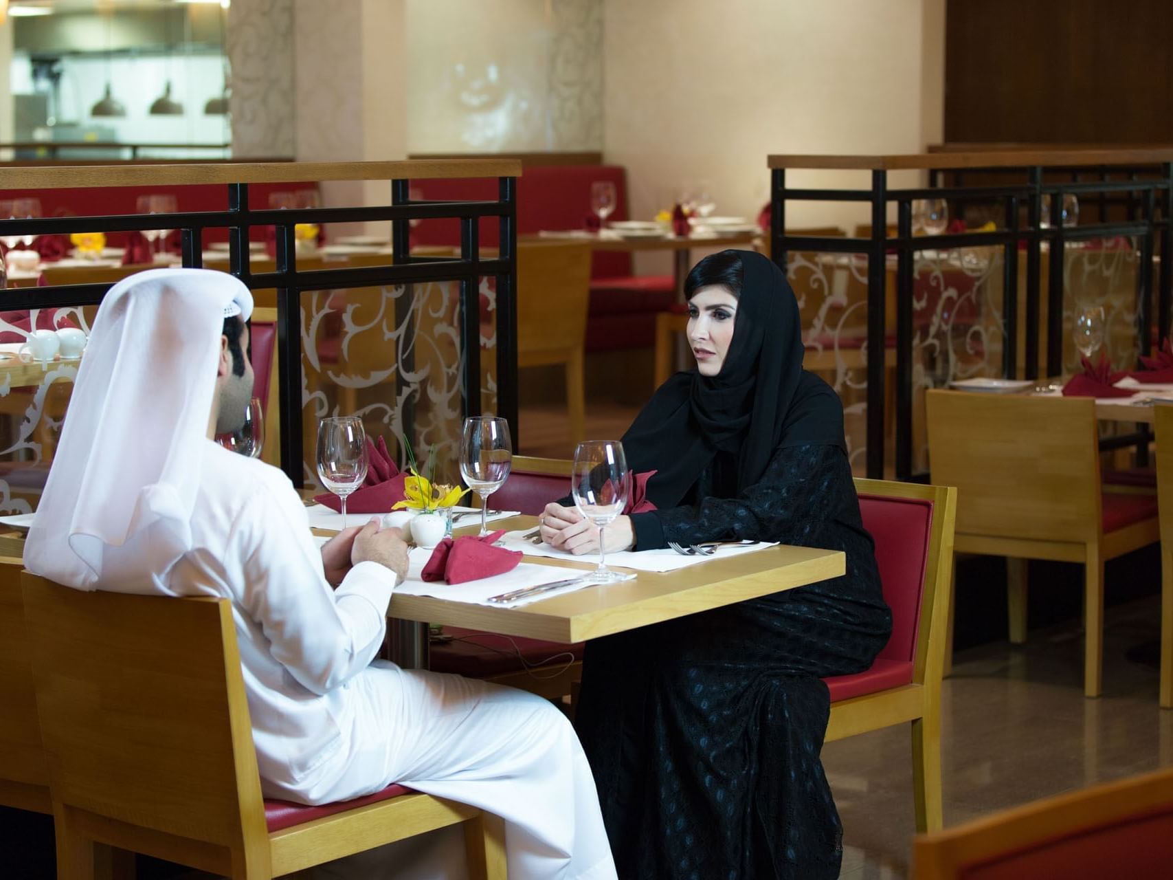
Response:
M188 864L226 873L246 839L260 841L248 860L266 871L231 604L21 578L49 788L67 820L140 852L143 828L183 839L203 852Z

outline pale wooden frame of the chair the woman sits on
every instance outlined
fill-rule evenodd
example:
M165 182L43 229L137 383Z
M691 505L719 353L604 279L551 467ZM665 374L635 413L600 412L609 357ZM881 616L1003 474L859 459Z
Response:
M825 742L911 723L913 797L917 831L942 826L941 796L941 678L944 668L945 624L951 594L954 524L957 490L947 486L855 480L861 495L916 499L933 503L929 553L921 590L921 616L916 658L910 684L830 704Z

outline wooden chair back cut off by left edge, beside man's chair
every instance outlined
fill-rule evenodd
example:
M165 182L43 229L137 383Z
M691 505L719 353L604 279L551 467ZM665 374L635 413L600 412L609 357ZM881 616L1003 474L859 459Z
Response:
M19 560L0 560L0 805L48 813Z

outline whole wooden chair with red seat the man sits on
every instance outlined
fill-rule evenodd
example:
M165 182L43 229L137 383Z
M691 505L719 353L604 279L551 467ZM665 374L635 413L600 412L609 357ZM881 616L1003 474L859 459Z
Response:
M267 879L456 823L470 874L504 876L500 820L465 804L399 785L323 806L264 799L228 600L21 578L60 878L88 880L108 844Z

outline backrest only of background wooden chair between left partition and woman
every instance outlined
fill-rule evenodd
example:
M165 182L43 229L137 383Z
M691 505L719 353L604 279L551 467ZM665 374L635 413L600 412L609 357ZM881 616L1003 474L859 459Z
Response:
M517 244L517 354L581 348L590 298L590 244Z

